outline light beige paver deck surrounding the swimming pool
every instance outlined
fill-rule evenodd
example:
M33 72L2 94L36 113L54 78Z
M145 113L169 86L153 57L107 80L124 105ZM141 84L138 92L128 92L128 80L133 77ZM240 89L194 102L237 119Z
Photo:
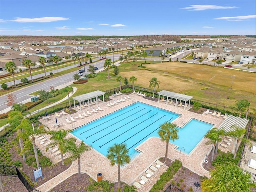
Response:
M111 99L116 100L120 98L124 98L124 96L127 97L127 95L118 96L116 98ZM214 117L210 114L197 114L194 112L189 112L189 107L186 108L186 110L183 109L183 107L174 106L173 104L166 104L165 102L154 102L152 100L144 99L141 96L136 95L129 95L132 99L126 100L126 102L122 102L120 104L117 104L113 107L108 107L108 102L99 102L98 106L100 106L104 111L98 111L98 113L94 113L91 116L88 116L84 119L77 118L76 122L73 122L72 124L68 124L65 120L65 118L69 117L70 115L62 115L60 118L58 118L58 122L62 124L60 128L63 129L74 129L75 127L82 126L88 122L91 122L92 120L96 120L102 116L105 116L107 114L110 114L111 112L114 112L120 108L123 108L125 106L128 106L134 102L142 102L145 104L150 104L155 107L159 107L165 110L169 110L171 112L175 112L178 114L181 114L180 117L176 118L173 122L177 124L177 126L182 127L186 122L188 122L191 118L205 121L211 124L214 124L214 127L218 128L220 124L224 121L223 118ZM96 106L96 105L94 105ZM90 108L90 111L92 108L97 108L92 106ZM88 108L83 109L82 111L88 110ZM80 112L77 112L75 114L72 114L73 117L78 116ZM82 113L81 113L82 114ZM55 115L52 116L52 120L49 120L47 122L44 122L44 120L40 120L43 124L49 127L50 130L57 130L57 128L54 128L52 126L55 122ZM72 136L71 134L69 136ZM46 138L50 138L49 135L45 136ZM202 163L206 158L206 154L209 154L212 145L205 145L205 143L208 141L208 139L203 138L201 142L194 148L194 150L190 153L190 155L183 154L182 152L175 150L176 147L174 144L169 143L168 148L168 158L171 160L180 160L182 162L182 166L188 168L192 172L200 175L200 176L209 176L209 172L206 171L202 167ZM61 159L56 159L50 152L45 151L45 146L43 144L40 144L40 141L36 141L36 144L38 145L38 148L42 151L42 153L45 156L48 156L52 162L56 163L59 162ZM137 147L138 150L142 151L142 154L138 155L135 159L133 159L128 165L121 168L121 181L125 182L129 185L132 185L132 182L135 180L137 182L140 182L139 177L141 175L146 176L145 170L147 170L150 165L154 165L156 167L156 164L154 163L157 159L164 157L165 155L165 149L166 149L166 143L162 142L160 138L152 137L140 144L140 146ZM154 185L156 180L160 177L160 175L167 170L166 166L163 166L160 168L160 172L157 173L157 176L155 178L151 177L151 184L144 184L145 186L145 192L149 191L150 188ZM77 162L73 162L70 168L68 168L66 171L62 172L58 176L52 178L48 182L42 184L37 190L40 190L41 192L48 192L50 189L54 188L54 186L58 185L59 183L66 180L68 177L72 176L73 174L78 172L78 164ZM107 160L105 156L97 152L96 150L92 149L90 152L86 152L81 157L81 172L84 172L91 176L94 180L97 180L97 174L102 173L103 180L108 180L110 182L117 182L118 181L118 174L117 174L117 166L110 166L110 161Z

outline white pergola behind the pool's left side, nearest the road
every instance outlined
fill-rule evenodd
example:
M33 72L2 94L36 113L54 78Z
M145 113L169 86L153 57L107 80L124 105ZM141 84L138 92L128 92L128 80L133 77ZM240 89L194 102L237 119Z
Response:
M74 100L75 108L76 108L75 100L77 100L79 102L79 107L80 107L80 111L81 111L81 102L84 105L84 101L88 100L88 106L90 108L90 99L96 98L96 104L98 105L98 97L103 96L103 102L104 102L104 94L105 94L105 92L102 92L102 91L94 91L94 92L86 93L86 94L79 95L76 97L72 97L72 99Z

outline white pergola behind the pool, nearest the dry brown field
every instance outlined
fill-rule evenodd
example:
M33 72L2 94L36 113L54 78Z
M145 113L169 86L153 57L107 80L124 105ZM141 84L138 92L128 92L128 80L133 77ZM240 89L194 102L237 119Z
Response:
M176 99L175 107L177 106L177 100L180 100L180 102L184 101L185 102L184 110L186 109L186 103L188 102L188 106L190 106L190 100L193 98L192 96L189 96L189 95L174 93L166 90L162 90L158 92L158 102L160 101L160 96L167 97L166 104L168 104L168 98L171 98L171 100Z

